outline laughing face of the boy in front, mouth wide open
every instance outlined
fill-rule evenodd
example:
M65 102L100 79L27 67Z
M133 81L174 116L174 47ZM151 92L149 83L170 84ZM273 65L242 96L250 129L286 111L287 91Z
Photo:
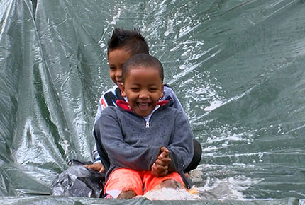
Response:
M163 97L163 84L159 71L138 66L126 75L120 86L123 97L127 97L131 109L141 117L150 115L159 98Z

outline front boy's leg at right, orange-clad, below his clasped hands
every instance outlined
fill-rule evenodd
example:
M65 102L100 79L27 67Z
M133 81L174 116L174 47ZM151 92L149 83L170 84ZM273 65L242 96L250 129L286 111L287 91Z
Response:
M172 172L165 177L155 177L151 171L148 171L143 176L144 194L152 189L161 189L162 187L179 188L183 184L182 177L178 172Z

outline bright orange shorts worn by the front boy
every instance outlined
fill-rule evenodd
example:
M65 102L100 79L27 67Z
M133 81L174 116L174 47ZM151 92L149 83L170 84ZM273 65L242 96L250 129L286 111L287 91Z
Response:
M143 195L165 180L176 180L180 185L184 184L178 172L172 172L165 177L155 177L151 171L119 168L111 172L104 187L104 194L111 194L116 198L121 192L133 190L135 194Z

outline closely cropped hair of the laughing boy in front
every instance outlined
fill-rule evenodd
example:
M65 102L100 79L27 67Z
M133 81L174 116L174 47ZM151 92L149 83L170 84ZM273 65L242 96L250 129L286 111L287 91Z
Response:
M125 81L129 71L131 71L131 69L137 69L138 66L150 67L159 71L160 78L163 83L163 79L164 79L163 66L157 58L149 54L135 54L134 56L130 57L125 62L125 64L123 64L122 67L123 82Z

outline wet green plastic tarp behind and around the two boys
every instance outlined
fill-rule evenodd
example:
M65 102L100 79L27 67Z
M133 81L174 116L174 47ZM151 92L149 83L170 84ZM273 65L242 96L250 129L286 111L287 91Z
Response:
M93 160L115 27L140 28L164 64L203 147L204 199L305 197L305 1L0 0L0 18L3 204L105 202L48 195L68 160Z

